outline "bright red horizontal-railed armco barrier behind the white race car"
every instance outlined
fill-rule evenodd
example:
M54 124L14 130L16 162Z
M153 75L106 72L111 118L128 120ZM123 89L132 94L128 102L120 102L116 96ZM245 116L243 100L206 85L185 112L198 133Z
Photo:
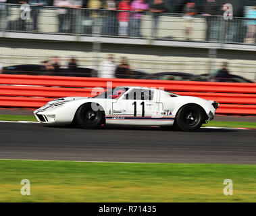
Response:
M147 86L220 103L219 114L256 115L256 84L0 74L0 107L41 107L59 97L91 97L94 87Z

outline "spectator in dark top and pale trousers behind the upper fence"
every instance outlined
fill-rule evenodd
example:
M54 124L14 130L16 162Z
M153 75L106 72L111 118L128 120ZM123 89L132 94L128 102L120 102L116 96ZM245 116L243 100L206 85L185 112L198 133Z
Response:
M197 14L196 11L196 4L195 2L188 2L184 6L184 9L182 11L182 14L185 14L183 16L184 18L184 32L186 36L186 40L190 40L190 32L193 30L194 23L193 23L193 16Z

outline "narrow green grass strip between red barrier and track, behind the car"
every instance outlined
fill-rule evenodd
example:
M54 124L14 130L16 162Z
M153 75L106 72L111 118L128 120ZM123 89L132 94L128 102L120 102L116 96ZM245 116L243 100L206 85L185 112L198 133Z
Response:
M37 121L36 117L29 115L0 115L0 121ZM226 127L226 128L256 128L256 122L238 121L209 121L204 127Z

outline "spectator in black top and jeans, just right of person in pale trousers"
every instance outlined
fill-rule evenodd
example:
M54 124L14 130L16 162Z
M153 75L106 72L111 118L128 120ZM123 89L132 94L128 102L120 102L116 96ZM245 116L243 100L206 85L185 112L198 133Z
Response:
M220 21L222 18L222 7L216 0L207 0L203 3L203 16L207 22L207 41L219 41L220 40ZM212 17L215 16L215 17Z

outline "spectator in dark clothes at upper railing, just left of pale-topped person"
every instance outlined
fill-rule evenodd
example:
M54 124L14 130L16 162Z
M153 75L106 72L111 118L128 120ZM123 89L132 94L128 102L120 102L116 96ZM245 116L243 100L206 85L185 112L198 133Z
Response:
M31 6L30 14L33 20L33 31L37 32L39 31L38 20L39 20L40 7L47 5L47 1L46 0L29 0L28 3Z

